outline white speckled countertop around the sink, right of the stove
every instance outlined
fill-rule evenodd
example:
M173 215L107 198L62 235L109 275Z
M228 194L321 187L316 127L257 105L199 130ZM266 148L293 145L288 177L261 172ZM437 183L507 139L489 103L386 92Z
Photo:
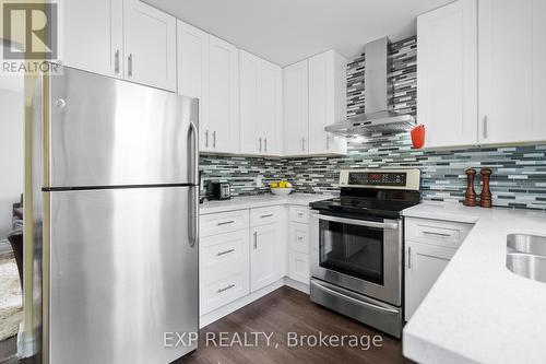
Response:
M405 216L475 223L404 328L419 363L546 363L546 284L506 268L507 235L546 235L546 214L422 203Z

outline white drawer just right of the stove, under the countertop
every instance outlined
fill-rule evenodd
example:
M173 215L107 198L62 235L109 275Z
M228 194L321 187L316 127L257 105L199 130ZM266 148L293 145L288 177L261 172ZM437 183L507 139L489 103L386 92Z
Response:
M473 224L429 220L405 219L406 240L458 248L468 235Z

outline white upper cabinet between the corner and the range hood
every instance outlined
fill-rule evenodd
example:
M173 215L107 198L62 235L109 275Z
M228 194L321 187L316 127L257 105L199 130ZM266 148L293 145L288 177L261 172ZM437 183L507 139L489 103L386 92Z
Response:
M346 66L329 50L284 69L286 155L346 153L346 140L324 131L346 118Z

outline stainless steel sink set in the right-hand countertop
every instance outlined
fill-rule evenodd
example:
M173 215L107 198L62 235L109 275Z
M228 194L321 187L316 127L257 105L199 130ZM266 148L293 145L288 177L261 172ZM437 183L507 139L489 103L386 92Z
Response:
M546 236L507 236L507 268L513 273L546 283Z

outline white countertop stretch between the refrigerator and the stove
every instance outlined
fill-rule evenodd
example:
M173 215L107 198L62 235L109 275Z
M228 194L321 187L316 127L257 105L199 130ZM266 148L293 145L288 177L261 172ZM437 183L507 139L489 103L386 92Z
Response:
M331 195L318 193L290 193L288 196L258 195L248 197L234 197L229 200L205 201L200 204L200 214L217 213L241 209L263 208L275 204L309 206L310 202L332 198Z

